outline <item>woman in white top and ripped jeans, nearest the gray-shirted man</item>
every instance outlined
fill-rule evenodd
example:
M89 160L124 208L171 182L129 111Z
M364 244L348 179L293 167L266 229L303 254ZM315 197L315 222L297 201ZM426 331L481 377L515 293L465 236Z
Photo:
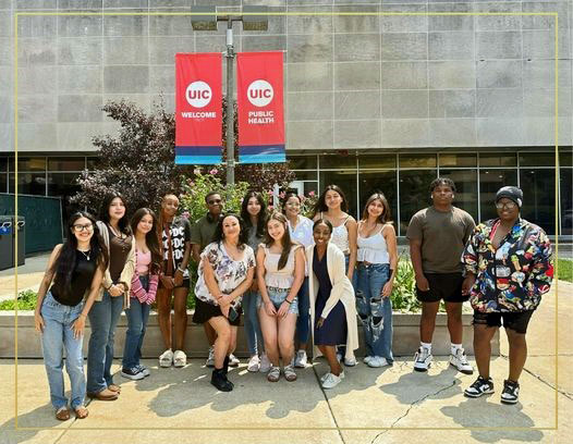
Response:
M385 195L371 195L358 223L356 311L364 328L368 367L393 362L392 285L398 268L397 239Z

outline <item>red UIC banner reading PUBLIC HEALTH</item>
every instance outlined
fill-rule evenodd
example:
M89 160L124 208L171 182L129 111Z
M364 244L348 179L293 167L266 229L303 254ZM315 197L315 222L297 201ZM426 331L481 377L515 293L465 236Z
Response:
M236 54L241 163L284 162L282 51Z

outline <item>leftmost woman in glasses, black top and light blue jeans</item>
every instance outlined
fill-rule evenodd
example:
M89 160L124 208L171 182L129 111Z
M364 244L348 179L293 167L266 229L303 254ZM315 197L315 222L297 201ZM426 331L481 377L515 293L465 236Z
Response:
M78 419L87 417L82 353L84 326L107 261L96 220L86 212L76 212L68 223L68 239L53 249L38 289L34 323L41 333L51 404L56 418L62 421L70 419L62 371L64 349L65 369L72 384L72 410Z

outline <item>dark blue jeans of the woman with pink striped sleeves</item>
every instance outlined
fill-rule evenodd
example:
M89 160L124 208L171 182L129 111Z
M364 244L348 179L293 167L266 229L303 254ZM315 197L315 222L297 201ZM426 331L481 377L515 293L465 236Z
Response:
M139 276L139 281L144 288L149 287L149 278ZM139 365L142 358L142 345L145 336L145 329L147 320L149 319L149 310L151 306L142 304L136 297L130 299L130 308L125 309L127 317L127 331L125 332L125 346L123 348L122 367L124 369L133 369Z

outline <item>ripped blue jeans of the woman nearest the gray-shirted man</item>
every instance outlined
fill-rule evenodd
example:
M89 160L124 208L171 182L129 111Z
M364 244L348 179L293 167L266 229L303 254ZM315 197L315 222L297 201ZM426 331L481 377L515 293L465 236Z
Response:
M357 272L356 311L364 328L366 355L392 362L392 300L381 295L390 278L390 266L361 263Z

